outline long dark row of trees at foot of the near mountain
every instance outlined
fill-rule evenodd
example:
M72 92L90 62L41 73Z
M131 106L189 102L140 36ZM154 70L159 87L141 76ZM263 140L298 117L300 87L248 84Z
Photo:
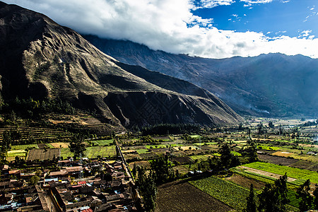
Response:
M158 124L146 126L141 129L143 136L146 135L167 135L167 134L185 134L198 133L200 126L196 124Z

